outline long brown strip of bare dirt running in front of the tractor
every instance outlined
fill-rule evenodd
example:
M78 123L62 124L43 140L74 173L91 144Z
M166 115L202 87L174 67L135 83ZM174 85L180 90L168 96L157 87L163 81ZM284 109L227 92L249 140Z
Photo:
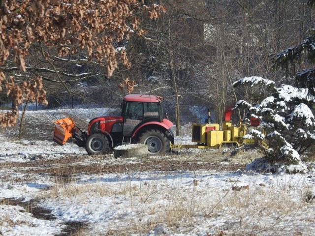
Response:
M114 158L113 155L88 156L65 155L53 160L3 163L2 168L14 169L25 174L48 174L70 177L78 174L111 174L143 171L237 171L244 170L255 158L253 153L244 152L228 157L219 151L195 154L172 154L160 157Z

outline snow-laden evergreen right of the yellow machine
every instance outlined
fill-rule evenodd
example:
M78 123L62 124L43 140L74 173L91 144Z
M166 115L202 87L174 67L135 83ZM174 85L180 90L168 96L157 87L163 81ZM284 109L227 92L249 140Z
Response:
M259 118L266 136L254 129L246 138L255 139L268 160L298 164L300 154L315 144L315 118L311 109L315 97L308 94L308 89L276 87L275 82L261 77L246 77L233 84L234 87L258 85L264 85L270 96L254 105L240 100L236 107L249 111L252 118Z

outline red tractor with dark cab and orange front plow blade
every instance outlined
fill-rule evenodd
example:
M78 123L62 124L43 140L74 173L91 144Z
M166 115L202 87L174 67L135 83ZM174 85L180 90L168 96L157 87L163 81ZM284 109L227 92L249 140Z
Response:
M126 95L121 116L94 118L87 132L79 129L72 118L56 120L53 140L63 145L74 138L91 155L131 143L146 144L152 155L165 153L170 143L174 144L174 135L170 129L173 123L164 118L161 101L162 97L155 95Z

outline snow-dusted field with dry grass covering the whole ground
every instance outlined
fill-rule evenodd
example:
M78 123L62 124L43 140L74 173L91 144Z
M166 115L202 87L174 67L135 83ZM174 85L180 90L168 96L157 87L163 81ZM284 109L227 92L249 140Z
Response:
M51 121L85 128L107 109L29 111L0 132L0 235L315 235L315 170L246 172L255 151L179 150L149 158L88 156L51 141ZM188 142L188 136L175 142Z

